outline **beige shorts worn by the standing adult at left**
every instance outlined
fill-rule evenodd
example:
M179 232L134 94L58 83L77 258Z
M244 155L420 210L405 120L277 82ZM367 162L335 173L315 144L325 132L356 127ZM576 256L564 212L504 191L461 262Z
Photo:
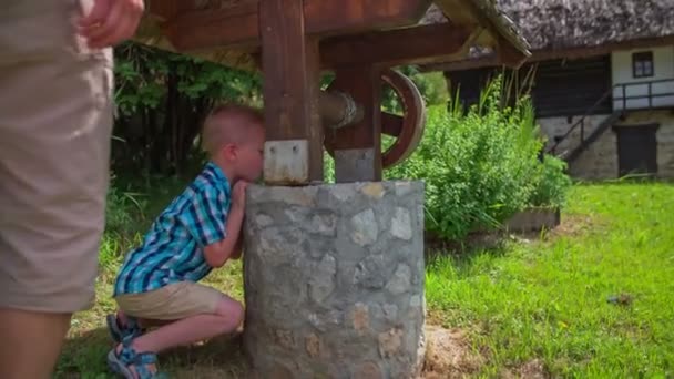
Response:
M76 35L84 0L2 7L0 308L85 309L105 219L112 50Z

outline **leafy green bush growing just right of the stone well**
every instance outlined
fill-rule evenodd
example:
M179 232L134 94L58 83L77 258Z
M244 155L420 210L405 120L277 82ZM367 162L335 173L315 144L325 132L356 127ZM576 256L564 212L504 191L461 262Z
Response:
M543 141L531 100L506 106L503 86L502 78L494 79L467 111L456 100L448 109L429 107L419 148L385 173L426 181L426 227L433 235L461 239L498 226L532 201L563 197L560 163L539 160Z

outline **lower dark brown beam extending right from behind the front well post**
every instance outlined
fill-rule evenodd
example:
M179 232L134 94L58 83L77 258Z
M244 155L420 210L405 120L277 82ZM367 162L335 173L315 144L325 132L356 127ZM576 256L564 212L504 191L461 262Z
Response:
M324 68L432 63L460 52L470 37L449 23L336 37L321 42L320 61Z

